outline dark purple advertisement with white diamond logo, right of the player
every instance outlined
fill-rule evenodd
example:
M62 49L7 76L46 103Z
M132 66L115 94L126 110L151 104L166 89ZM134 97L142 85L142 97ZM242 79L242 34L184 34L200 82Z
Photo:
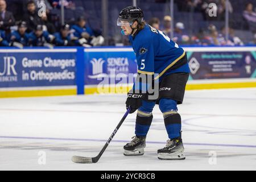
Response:
M255 47L185 48L190 79L255 78Z

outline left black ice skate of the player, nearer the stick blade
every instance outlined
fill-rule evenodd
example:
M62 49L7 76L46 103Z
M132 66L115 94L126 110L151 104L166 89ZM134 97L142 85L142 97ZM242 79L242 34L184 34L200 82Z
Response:
M143 155L144 148L146 147L146 137L134 136L130 143L123 146L125 152L123 155Z

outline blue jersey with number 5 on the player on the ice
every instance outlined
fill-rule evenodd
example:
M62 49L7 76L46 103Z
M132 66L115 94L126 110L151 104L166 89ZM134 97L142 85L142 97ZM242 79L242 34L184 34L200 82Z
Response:
M129 39L136 54L138 73L150 75L158 73L155 80L170 73L189 73L188 64L170 70L185 56L185 51L162 31L146 24L137 35L134 37L130 35Z

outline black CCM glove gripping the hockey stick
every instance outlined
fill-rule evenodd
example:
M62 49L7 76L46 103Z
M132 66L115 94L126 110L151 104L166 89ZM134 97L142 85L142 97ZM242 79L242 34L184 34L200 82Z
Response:
M134 113L139 107L142 106L142 100L145 94L142 93L127 93L127 100L125 102L126 109L131 107L130 113Z

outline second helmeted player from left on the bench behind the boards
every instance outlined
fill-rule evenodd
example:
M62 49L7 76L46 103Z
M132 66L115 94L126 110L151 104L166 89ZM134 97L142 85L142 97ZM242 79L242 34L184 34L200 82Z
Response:
M54 36L47 31L43 31L43 25L38 24L35 30L30 33L30 46L52 47Z

